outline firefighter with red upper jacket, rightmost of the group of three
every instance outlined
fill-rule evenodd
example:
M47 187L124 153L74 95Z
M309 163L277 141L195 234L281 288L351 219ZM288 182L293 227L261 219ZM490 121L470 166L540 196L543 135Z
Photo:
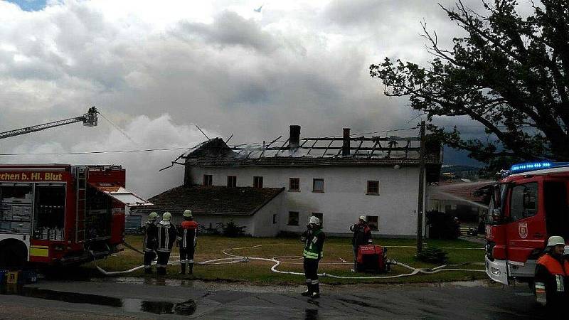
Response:
M191 210L184 210L184 221L178 225L178 245L180 247L180 274L193 274L193 253L198 240L198 223L193 220Z

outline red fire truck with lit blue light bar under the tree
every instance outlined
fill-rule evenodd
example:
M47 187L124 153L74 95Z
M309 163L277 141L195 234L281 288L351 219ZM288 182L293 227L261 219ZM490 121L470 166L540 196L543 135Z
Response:
M569 163L516 164L501 172L490 191L486 273L501 284L517 279L533 289L548 238L569 240Z

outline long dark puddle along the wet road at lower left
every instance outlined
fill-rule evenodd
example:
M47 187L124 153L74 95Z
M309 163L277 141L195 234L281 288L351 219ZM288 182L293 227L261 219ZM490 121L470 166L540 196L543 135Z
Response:
M6 284L0 286L0 294L18 295L37 299L55 300L72 304L95 304L98 306L113 306L127 312L149 312L151 314L179 314L190 316L196 311L196 302L188 300L186 302L161 302L144 301L142 299L119 299L113 297L100 296L97 294L80 294L76 292L62 292L21 285Z

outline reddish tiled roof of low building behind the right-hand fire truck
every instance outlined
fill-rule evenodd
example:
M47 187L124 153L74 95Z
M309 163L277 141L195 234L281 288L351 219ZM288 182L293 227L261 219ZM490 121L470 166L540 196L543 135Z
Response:
M477 192L484 186L492 184L493 181L477 182L444 182L438 186L430 186L431 200L456 200L474 201L476 203L486 203L483 193Z

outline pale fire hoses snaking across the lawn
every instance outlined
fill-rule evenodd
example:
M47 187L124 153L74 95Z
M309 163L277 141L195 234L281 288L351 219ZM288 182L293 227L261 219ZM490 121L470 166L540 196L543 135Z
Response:
M125 243L125 245L127 247L131 248L132 250L136 251L136 252L143 253L139 250L136 250L134 247L132 247L132 245L127 245L126 243ZM301 260L302 257L298 257L298 256L277 256L277 257L272 257L272 258L263 258L263 257L245 257L245 256L240 256L240 255L232 255L229 253L229 251L232 251L232 250L254 249L254 248L262 247L262 246L265 246L265 245L252 245L250 247L236 247L236 248L225 249L225 250L222 250L222 252L224 255L227 255L228 257L206 260L206 261L202 261L202 262L196 262L196 265L223 265L223 264L232 264L232 263L240 263L240 262L249 262L251 260L267 261L267 262L273 262L274 263L274 265L272 265L272 267L270 269L271 272L280 273L280 274L294 274L294 275L304 276L304 273L302 273L302 272L277 270L277 267L279 267L279 265L282 262L287 261L287 260L278 260L277 258L281 258L281 259L282 258L289 258L288 260ZM272 244L271 246L275 246L275 245ZM462 248L457 248L457 249L462 249ZM174 260L174 261L168 262L168 264L169 265L177 265L179 262L180 262L180 260ZM99 270L99 272L101 272L102 274L105 274L105 275L126 274L126 273L134 272L136 270L140 270L140 269L144 268L144 265L141 265L141 266L129 269L129 270L105 271L97 265L97 262L95 259L93 259L93 263L95 264L95 267L97 267L97 270ZM289 263L294 263L294 262L289 262ZM152 264L155 265L156 261L152 262ZM457 265L440 265L438 267L433 267L433 268L415 268L415 267L411 267L410 265L405 265L403 262L397 262L395 260L388 260L388 264L404 267L405 269L408 269L411 272L406 273L406 274L395 274L395 275L391 275L391 276L364 276L364 277L346 277L346 276L339 276L336 274L329 274L326 272L318 274L318 275L320 277L330 277L330 278L334 278L334 279L393 279L393 278L399 278L399 277L410 277L410 276L413 276L415 274L435 274L438 272L445 272L445 271L486 272L485 270L457 268L457 267L460 267L462 265L484 265L483 262L463 262L463 263L460 263ZM320 265L352 265L352 264L351 264L351 262L321 262Z

